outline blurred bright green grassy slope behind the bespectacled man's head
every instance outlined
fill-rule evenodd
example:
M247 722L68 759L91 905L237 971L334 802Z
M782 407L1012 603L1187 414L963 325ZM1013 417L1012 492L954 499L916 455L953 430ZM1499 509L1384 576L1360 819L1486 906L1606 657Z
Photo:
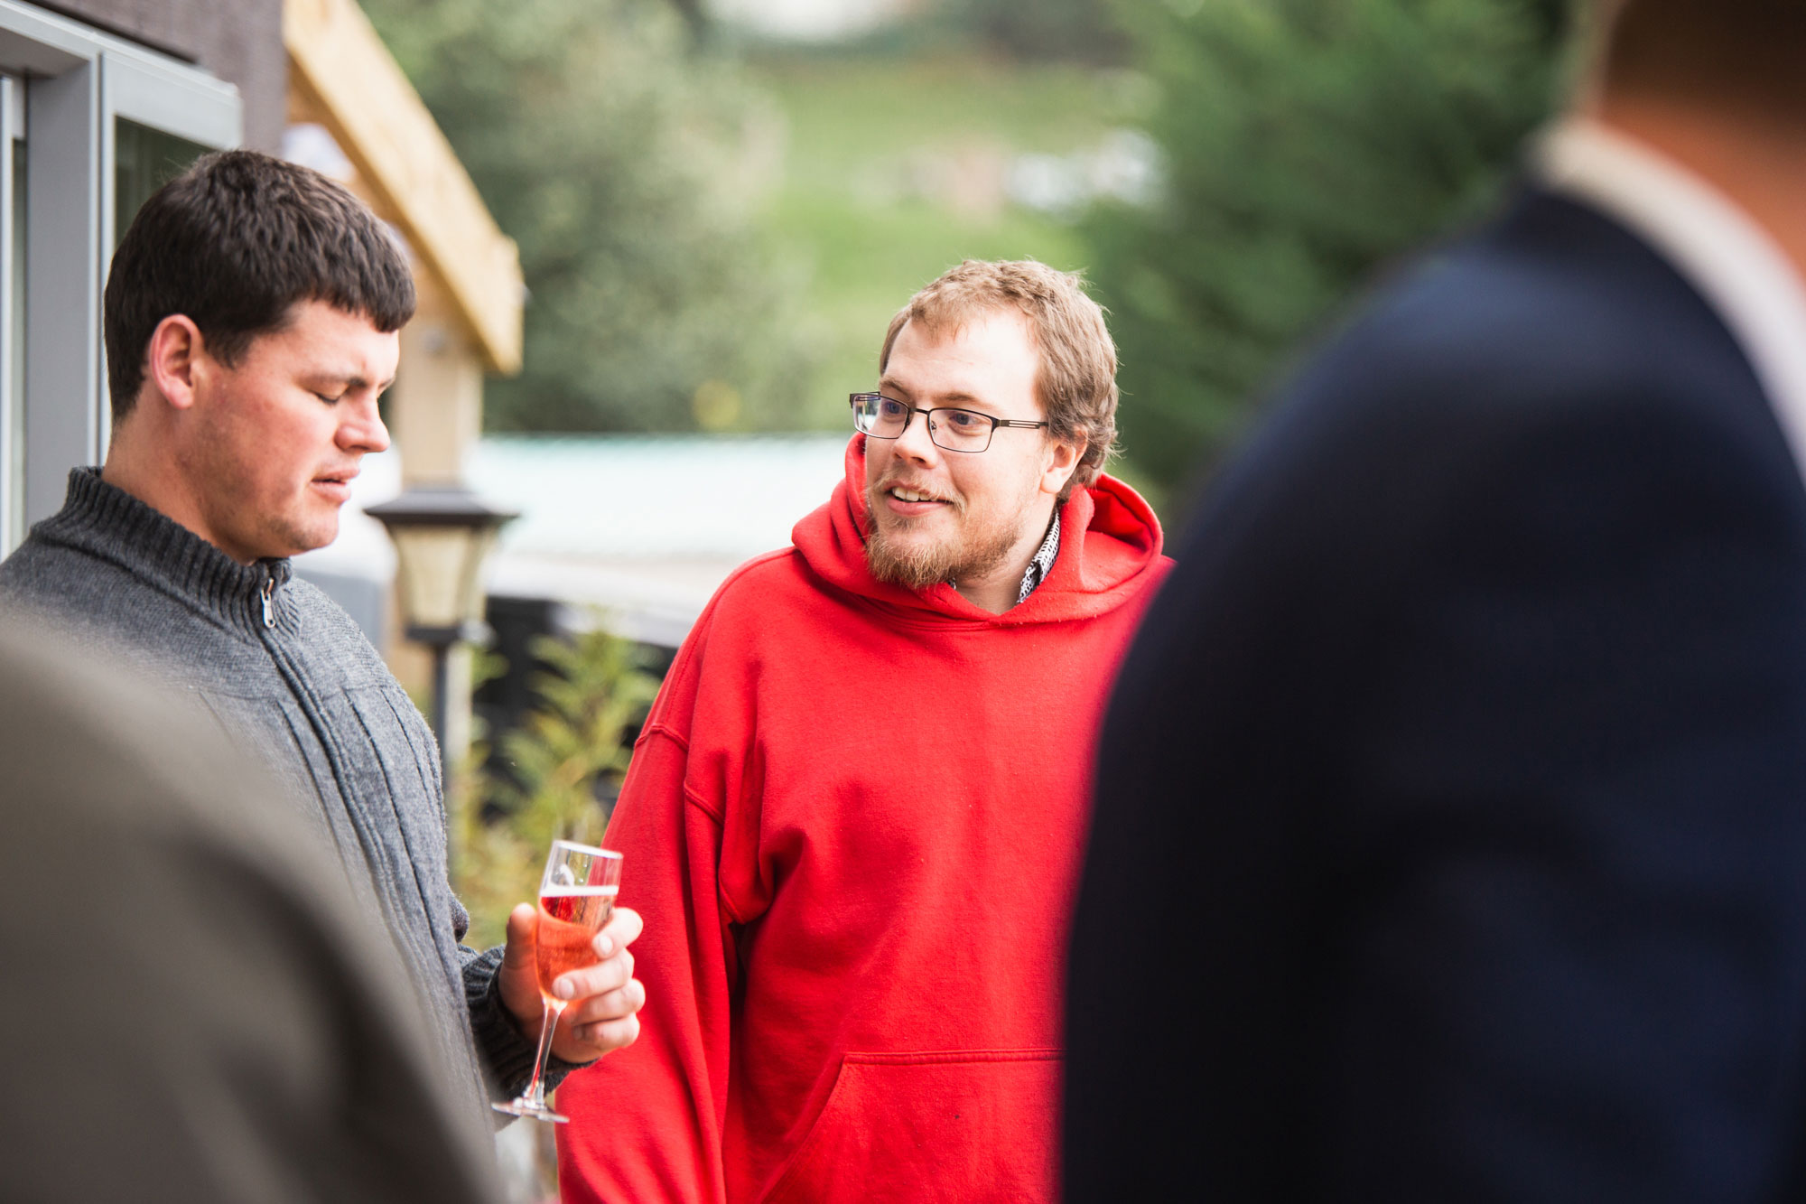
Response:
M1129 121L1132 80L972 54L766 54L749 74L787 127L768 221L807 282L798 425L845 425L890 315L961 259L1085 268L1075 228L1011 204L1001 181L1020 154L1085 150Z

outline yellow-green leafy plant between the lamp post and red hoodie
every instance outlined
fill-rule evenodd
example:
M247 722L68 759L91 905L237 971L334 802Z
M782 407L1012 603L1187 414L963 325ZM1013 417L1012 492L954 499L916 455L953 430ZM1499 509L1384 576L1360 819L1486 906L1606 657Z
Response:
M601 839L609 815L598 781L627 772L625 734L659 689L634 645L600 627L571 640L540 636L533 654L551 669L535 678L538 707L500 738L507 770L480 772L486 748L477 747L464 774L479 806L459 808L457 889L471 915L466 944L477 949L500 944L509 909L535 889L554 839Z

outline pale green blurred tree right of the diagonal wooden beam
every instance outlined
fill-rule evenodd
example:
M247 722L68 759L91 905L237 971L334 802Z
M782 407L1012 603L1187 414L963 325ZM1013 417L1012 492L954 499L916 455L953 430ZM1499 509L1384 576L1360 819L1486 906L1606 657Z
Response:
M777 119L668 0L363 7L520 244L526 371L488 387L491 428L786 425L795 289L755 212Z

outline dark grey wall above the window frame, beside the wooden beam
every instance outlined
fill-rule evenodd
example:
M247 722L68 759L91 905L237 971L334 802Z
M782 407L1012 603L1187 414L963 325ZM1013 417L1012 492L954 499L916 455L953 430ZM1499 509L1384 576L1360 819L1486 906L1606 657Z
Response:
M282 0L27 2L199 63L237 83L244 98L244 145L269 154L282 148L289 87Z

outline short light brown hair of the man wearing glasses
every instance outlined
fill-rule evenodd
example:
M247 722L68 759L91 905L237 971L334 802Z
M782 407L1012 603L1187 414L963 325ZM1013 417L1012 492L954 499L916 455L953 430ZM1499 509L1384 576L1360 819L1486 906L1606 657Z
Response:
M1015 309L1028 318L1040 351L1035 392L1047 412L1047 432L1062 443L1085 443L1060 490L1064 501L1075 488L1096 481L1116 441L1116 343L1103 325L1103 307L1085 295L1076 271L1058 271L1031 259L968 259L898 309L878 353L878 371L890 363L890 347L905 324L955 331L991 309Z

